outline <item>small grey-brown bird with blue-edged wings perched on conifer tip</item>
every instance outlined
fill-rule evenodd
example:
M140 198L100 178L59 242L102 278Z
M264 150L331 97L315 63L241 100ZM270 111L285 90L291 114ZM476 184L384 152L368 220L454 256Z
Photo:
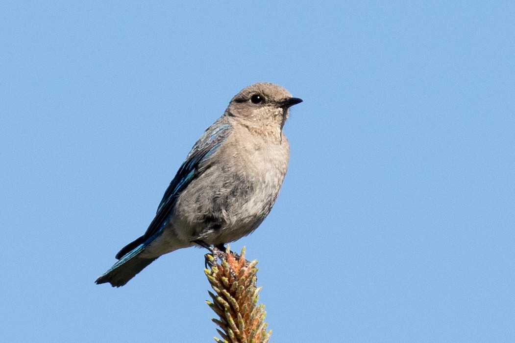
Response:
M120 287L168 252L192 246L225 251L224 244L254 231L286 175L283 127L290 106L300 102L269 82L235 95L187 155L145 234L123 247L95 283Z

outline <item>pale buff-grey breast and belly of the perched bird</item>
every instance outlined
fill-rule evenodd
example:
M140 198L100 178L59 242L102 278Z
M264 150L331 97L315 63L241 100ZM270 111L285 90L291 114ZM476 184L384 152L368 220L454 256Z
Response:
M288 166L286 137L232 138L178 199L173 222L184 239L235 241L258 227L276 201Z

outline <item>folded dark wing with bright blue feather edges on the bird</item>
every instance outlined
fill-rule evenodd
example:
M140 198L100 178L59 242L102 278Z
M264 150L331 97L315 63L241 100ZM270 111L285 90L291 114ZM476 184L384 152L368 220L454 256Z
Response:
M213 155L220 147L232 130L230 124L213 124L200 139L195 143L192 150L181 165L174 179L166 189L163 199L159 204L156 217L150 223L143 238L148 240L152 236L156 236L174 209L177 198L186 187L200 175L199 166Z

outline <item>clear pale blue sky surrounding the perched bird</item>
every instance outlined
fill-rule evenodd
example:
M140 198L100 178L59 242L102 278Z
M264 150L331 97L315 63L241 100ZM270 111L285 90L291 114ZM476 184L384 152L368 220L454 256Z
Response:
M210 342L202 249L95 285L241 88L288 174L232 244L276 342L515 341L515 5L3 2L6 342Z

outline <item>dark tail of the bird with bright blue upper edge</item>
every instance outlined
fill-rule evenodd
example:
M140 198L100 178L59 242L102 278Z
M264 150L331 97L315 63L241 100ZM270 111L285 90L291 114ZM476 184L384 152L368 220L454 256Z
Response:
M113 287L120 287L126 284L136 274L140 273L143 268L157 259L157 257L149 259L141 257L141 252L145 247L145 243L136 246L116 262L106 274L96 279L95 283L109 282Z

